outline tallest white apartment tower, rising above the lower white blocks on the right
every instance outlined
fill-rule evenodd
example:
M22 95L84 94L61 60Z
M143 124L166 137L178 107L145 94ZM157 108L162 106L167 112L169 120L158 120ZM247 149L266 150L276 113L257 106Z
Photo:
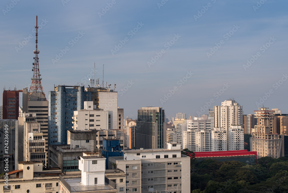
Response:
M221 106L214 106L214 127L229 129L231 125L243 125L242 105L233 99L226 100Z

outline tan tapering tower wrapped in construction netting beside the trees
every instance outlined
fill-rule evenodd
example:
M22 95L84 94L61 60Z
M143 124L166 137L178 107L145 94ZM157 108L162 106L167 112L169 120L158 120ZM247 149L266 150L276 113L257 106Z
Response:
M255 133L252 133L250 138L251 151L257 151L257 157L280 157L282 139L279 138L278 133L275 133L275 110L261 107L254 111L257 118L257 125L255 125Z

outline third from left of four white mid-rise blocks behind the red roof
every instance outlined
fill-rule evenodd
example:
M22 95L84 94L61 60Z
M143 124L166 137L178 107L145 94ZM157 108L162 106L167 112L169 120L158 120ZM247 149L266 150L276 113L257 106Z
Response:
M224 128L214 128L211 133L211 151L227 151L227 134Z

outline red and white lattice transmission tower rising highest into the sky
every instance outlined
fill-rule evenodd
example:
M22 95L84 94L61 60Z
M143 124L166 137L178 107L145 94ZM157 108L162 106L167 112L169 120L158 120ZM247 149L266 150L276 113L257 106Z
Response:
M38 43L38 26L37 26L37 16L36 16L36 50L34 50L35 53L35 57L34 57L34 63L33 63L33 78L31 78L32 83L30 86L30 90L29 90L29 99L31 100L31 96L33 93L39 93L39 95L37 97L35 97L34 100L40 100L40 101L46 101L46 96L45 93L43 91L43 87L41 84L41 80L42 78L40 78L41 74L39 72L39 58L38 58L38 54L39 54L39 50L37 49L37 43ZM35 96L35 94L33 94Z

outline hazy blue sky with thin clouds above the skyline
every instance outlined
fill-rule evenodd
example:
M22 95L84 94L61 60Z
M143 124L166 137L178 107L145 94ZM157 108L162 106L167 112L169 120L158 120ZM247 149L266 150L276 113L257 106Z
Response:
M38 25L43 25L38 33L39 68L46 95L54 84L88 86L95 61L96 78L102 82L105 64L104 81L124 90L118 97L124 116L134 118L137 109L153 105L163 107L167 116L193 116L209 101L213 107L231 97L245 114L260 103L288 113L288 81L283 77L288 73L288 2L258 2L257 7L256 0L1 1L1 86L30 87L38 15ZM72 39L78 41L72 44ZM25 45L16 48L23 41ZM121 48L112 54L118 44ZM69 50L57 61L65 47ZM157 60L148 65L151 57ZM253 57L257 59L247 66ZM190 71L193 75L184 78ZM130 88L125 87L128 81ZM222 92L223 84L228 87Z

